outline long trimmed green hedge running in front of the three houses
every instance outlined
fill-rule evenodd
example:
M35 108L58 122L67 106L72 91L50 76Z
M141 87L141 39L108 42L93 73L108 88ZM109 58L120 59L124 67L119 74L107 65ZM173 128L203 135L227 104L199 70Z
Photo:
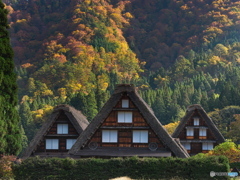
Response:
M210 179L210 172L229 172L224 156L187 159L168 158L28 158L13 165L17 180L32 179L111 179L128 176L133 179ZM227 179L227 177L215 177ZM211 178L214 179L214 178Z

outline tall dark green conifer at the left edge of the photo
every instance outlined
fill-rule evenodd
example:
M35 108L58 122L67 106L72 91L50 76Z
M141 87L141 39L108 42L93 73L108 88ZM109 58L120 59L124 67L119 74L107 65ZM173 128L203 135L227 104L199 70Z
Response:
M0 0L0 154L18 154L21 134L17 106L17 84L7 10Z

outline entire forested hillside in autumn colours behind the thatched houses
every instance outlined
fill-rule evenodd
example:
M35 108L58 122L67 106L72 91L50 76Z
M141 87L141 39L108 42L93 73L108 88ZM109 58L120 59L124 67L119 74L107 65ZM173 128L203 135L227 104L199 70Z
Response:
M4 2L28 140L57 104L91 120L118 83L135 84L163 124L199 103L229 134L235 116L216 114L239 113L239 1Z

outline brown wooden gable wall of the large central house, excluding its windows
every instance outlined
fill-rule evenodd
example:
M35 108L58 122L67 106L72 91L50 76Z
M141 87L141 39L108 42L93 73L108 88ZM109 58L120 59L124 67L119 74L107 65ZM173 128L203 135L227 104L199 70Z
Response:
M128 108L122 108L122 100L129 101ZM118 112L131 112L132 122L131 123L119 123L118 122ZM114 143L104 143L102 142L102 131L103 130L116 130L117 131L117 142ZM148 132L148 142L146 143L133 143L133 131L147 131ZM87 143L97 143L99 147L141 147L148 148L149 143L153 142L158 145L158 148L164 148L163 143L160 142L156 133L150 128L149 124L141 115L139 109L134 105L134 103L127 97L123 95L116 106L113 107L112 111L108 117L103 121L99 129L94 133L92 138Z

